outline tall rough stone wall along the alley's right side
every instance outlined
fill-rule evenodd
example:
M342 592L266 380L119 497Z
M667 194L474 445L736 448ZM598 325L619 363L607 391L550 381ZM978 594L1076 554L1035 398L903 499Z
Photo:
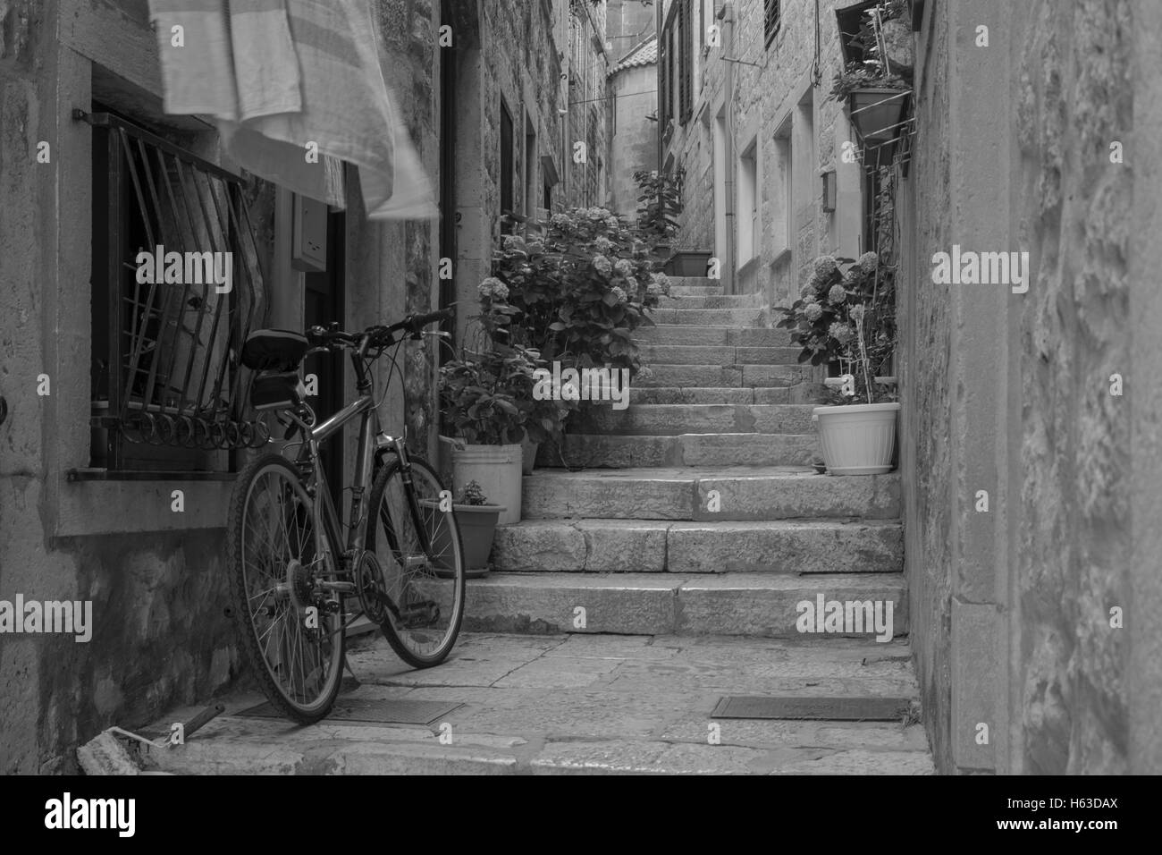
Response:
M1128 683L1131 624L1111 626L1111 608L1132 610L1139 536L1134 166L1111 162L1110 148L1132 128L1134 16L1121 0L927 7L901 298L905 551L925 721L946 771L1124 772L1131 700L1157 692ZM953 244L1027 251L1027 293L933 284L931 256ZM1156 747L1154 758L1139 769L1159 771Z

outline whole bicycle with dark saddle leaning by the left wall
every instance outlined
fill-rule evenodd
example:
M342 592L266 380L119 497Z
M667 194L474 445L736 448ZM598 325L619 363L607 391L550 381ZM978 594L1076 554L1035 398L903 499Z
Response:
M260 329L241 362L256 372L251 406L273 411L300 437L239 472L230 497L227 554L243 648L271 704L311 724L330 712L342 682L346 628L365 614L414 668L439 664L464 618L464 548L451 493L403 437L379 426L371 366L449 311L409 315L389 327L306 335ZM316 423L299 369L310 354L350 351L358 398ZM380 399L382 402L382 399ZM359 420L347 525L340 523L320 447ZM299 444L292 461L286 451ZM343 529L346 529L344 536ZM353 607L352 611L347 611Z

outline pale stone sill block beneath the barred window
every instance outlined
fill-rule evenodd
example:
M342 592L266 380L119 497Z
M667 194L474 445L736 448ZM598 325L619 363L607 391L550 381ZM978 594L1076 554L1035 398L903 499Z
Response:
M125 472L113 472L106 478L74 477L86 471L92 470L70 470L69 483L62 485L53 527L57 537L225 528L234 475L146 472L149 479L129 479ZM217 477L191 478L196 475ZM175 490L181 491L181 511L173 510Z

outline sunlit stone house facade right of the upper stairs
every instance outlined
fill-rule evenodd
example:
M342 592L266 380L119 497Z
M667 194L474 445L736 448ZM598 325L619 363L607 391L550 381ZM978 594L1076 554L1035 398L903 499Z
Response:
M862 251L861 171L837 152L855 135L827 99L844 2L659 3L661 159L683 174L679 243L722 262L727 293L798 293L820 254ZM834 172L838 204L824 211Z

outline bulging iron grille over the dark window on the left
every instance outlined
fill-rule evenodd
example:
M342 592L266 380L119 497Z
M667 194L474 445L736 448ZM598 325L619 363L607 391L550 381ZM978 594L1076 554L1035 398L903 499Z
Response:
M92 465L230 471L225 451L270 437L238 363L270 304L243 181L116 115L74 115L93 128ZM138 282L158 247L180 282Z

